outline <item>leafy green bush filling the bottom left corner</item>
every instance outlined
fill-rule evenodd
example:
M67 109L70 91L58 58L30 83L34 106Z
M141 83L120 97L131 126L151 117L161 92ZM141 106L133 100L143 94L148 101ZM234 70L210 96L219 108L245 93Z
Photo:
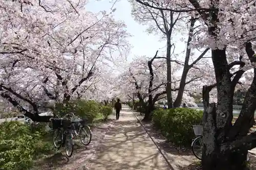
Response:
M33 159L53 147L43 142L41 132L30 130L28 125L11 121L0 124L0 169L25 170L32 166Z

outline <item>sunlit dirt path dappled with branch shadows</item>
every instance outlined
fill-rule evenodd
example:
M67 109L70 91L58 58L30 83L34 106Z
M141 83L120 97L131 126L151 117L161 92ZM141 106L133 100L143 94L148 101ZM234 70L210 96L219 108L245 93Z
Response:
M170 167L130 109L124 107L119 120L101 140L86 168L82 169L166 170Z

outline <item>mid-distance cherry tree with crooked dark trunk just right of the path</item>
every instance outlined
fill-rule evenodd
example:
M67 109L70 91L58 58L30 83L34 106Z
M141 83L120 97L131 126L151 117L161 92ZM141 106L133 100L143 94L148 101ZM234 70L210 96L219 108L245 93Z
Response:
M121 75L121 86L125 89L131 98L136 94L140 103L146 108L143 120L151 120L151 112L154 110L154 104L161 99L166 99L166 64L158 52L153 58L140 56L136 58ZM180 64L173 67L172 72L179 70ZM174 95L179 90L180 77L173 74L172 91ZM201 75L189 75L189 80L185 84L195 83L201 80ZM189 95L187 95L189 96ZM184 100L183 100L184 101Z

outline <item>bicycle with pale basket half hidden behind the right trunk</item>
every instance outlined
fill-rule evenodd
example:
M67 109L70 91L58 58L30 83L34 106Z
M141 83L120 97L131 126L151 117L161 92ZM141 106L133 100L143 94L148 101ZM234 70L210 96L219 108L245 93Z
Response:
M203 152L203 126L194 125L193 126L194 134L196 138L192 141L191 147L193 154L199 159L202 160ZM247 154L246 161L249 161L249 155Z

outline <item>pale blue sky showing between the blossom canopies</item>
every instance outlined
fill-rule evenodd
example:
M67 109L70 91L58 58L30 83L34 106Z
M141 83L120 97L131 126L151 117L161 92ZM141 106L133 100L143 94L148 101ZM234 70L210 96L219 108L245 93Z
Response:
M87 10L91 12L99 12L99 11L107 11L110 12L111 7L113 6L110 1L115 0L91 0L87 4ZM113 8L116 8L114 12L114 18L117 20L122 20L125 22L127 26L127 32L132 34L133 36L129 38L130 44L133 46L130 52L130 55L127 56L128 61L132 61L135 56L147 56L153 57L157 50L159 50L159 55L165 55L166 51L166 42L165 40L160 41L160 36L150 34L148 35L145 31L147 26L141 25L140 23L136 22L132 15L131 10L132 6L127 0L119 0ZM175 36L174 36L175 35ZM187 38L187 36L183 33L174 32L173 34L173 41L175 41L175 54L178 57L178 60L184 61L185 58L185 42L181 42L181 38ZM161 53L163 52L163 53ZM195 57L199 56L201 52L194 51ZM122 68L125 65L119 65L114 69L116 74L122 72ZM181 74L182 70L179 70L176 74Z

